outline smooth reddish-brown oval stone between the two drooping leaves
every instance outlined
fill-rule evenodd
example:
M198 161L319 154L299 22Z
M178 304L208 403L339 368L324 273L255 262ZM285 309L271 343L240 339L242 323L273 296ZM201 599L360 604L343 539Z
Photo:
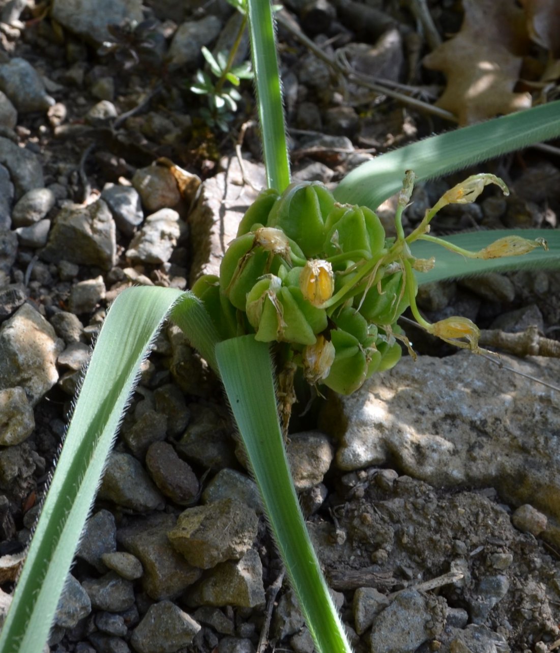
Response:
M179 458L167 442L154 442L146 454L146 467L159 490L179 505L194 503L198 479L190 466Z

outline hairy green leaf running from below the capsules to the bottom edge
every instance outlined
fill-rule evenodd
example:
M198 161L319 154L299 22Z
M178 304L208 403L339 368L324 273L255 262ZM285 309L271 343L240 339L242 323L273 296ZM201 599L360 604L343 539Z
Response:
M216 347L221 377L307 628L322 653L350 645L309 539L278 422L268 345L241 336Z

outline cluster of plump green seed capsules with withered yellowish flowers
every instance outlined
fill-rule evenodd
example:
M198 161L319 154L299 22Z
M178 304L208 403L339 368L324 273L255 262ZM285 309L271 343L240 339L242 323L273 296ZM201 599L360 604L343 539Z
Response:
M397 325L409 306L426 330L476 351L478 329L469 320L430 325L418 313L414 270L429 269L433 261L414 259L409 243L429 231L429 220L441 206L472 201L486 183L507 189L491 175L469 178L448 191L405 238L401 214L412 180L407 173L397 204L396 238L386 237L369 208L335 202L321 183L293 183L281 195L262 191L226 250L219 278L203 276L193 287L220 338L254 333L260 342L287 343L291 362L309 383L341 394L396 364L399 341L409 347ZM516 243L516 253L538 246L526 242L530 245ZM502 242L501 253L486 248L469 255L511 255L512 246Z

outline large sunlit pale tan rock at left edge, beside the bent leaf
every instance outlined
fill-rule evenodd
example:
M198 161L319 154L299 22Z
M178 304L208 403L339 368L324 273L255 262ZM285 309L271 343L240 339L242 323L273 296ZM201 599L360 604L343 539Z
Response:
M56 359L64 343L29 304L0 326L0 389L21 386L31 406L58 381Z

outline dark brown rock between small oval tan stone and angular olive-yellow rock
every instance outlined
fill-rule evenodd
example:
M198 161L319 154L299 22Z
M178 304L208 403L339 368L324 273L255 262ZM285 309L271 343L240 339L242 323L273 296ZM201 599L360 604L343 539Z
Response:
M117 531L117 541L142 563L142 586L155 601L179 596L202 573L171 546L167 533L175 522L166 514L137 517Z

